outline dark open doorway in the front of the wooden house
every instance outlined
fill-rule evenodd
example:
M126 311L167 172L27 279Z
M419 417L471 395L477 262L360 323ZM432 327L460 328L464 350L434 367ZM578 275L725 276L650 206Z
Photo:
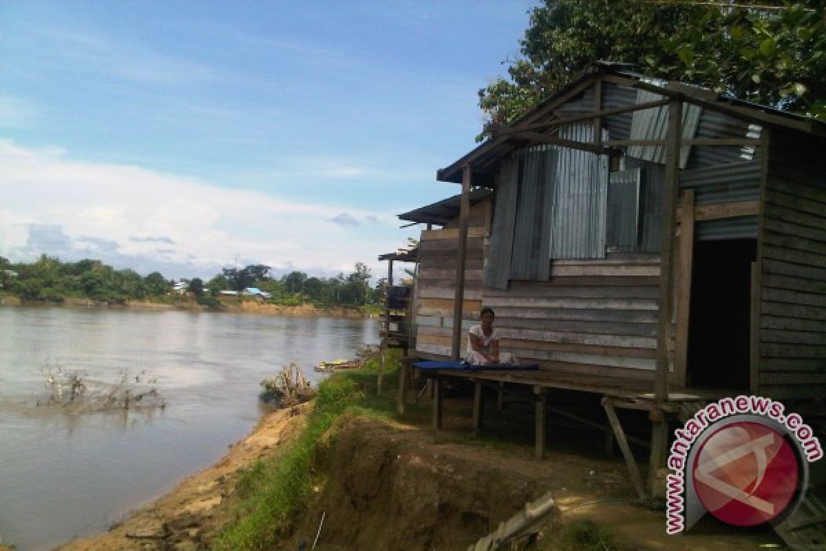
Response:
M756 251L756 240L695 243L687 373L692 386L748 390Z

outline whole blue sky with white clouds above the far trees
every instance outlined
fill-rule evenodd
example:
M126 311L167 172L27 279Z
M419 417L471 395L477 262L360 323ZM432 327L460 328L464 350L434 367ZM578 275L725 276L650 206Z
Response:
M532 5L2 0L0 256L382 276Z

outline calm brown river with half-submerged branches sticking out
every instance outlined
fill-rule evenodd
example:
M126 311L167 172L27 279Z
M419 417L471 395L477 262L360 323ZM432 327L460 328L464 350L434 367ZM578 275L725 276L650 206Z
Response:
M377 339L373 320L0 306L0 544L106 530L246 435L263 378L295 362L317 382L312 366ZM166 406L37 406L58 366L90 385L155 379Z

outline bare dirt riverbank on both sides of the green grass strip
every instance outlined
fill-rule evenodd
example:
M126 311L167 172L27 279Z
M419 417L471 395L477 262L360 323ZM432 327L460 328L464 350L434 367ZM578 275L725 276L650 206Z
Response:
M60 549L208 549L232 518L227 497L238 470L280 453L308 407L267 416L216 466L188 478L107 534ZM765 530L737 533L714 524L667 536L662 512L632 503L619 459L552 451L534 461L529 447L468 441L466 435L344 416L319 442L314 470L325 482L315 502L292 538L276 549L299 549L302 541L309 549L322 515L319 550L467 549L544 492L553 492L559 511L544 526L537 549L571 549L555 542L567 526L583 519L614 534L612 550L745 551L774 541Z

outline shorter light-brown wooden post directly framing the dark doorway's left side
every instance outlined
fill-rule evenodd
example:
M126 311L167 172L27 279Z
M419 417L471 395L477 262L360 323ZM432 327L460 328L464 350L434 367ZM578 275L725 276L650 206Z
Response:
M676 344L674 380L688 384L688 325L691 322L691 271L694 266L694 190L682 192L680 254L676 274Z

